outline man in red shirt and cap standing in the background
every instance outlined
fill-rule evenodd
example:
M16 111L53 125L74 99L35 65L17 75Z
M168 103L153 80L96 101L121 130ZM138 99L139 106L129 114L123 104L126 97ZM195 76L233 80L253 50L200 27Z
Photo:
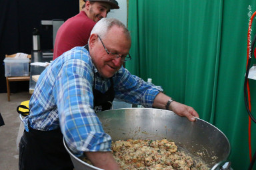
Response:
M110 9L119 9L115 0L83 0L82 10L71 17L57 31L53 60L75 46L87 44L93 26L102 18L107 17Z

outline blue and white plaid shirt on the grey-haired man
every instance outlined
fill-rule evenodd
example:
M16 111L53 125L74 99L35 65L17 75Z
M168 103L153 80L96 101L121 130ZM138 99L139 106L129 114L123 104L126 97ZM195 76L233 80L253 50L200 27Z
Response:
M26 131L27 121L31 128L43 131L60 127L77 156L83 151L111 151L111 137L103 131L93 109L94 78L95 89L102 93L111 86L109 78L99 75L83 46L59 56L39 76L29 102L30 114L24 119ZM123 67L113 82L115 98L147 108L152 108L155 96L163 91Z

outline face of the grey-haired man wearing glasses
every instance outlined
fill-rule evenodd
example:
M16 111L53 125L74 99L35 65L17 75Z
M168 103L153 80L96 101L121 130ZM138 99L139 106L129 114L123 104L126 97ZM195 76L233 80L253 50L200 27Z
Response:
M123 28L116 25L111 27L108 33L104 37L101 37L101 40L105 44L107 50L120 55L127 55L131 48L131 39L123 33ZM96 66L101 76L110 78L121 68L123 64L121 57L112 59L109 54L107 54L103 44L96 34L91 35L89 46L93 64Z

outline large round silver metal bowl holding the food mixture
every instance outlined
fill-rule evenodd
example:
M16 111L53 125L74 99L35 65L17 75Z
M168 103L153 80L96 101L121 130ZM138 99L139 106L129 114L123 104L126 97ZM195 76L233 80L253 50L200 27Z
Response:
M194 157L201 157L212 170L219 169L230 153L229 140L225 134L198 118L190 122L174 112L152 108L107 110L97 113L97 116L113 141L130 138L171 139L180 149L186 149ZM65 148L75 170L99 170L75 157L66 145Z

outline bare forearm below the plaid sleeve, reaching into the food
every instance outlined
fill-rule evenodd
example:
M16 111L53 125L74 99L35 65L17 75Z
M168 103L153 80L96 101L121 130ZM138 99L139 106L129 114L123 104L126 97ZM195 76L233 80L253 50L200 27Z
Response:
M105 170L119 170L111 151L85 152L88 159L95 167Z

